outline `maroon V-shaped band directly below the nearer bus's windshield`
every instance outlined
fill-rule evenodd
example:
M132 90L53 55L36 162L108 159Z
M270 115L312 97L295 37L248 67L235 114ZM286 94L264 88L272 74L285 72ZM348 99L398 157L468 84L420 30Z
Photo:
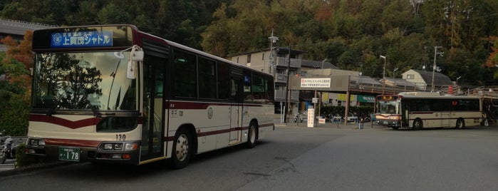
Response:
M55 125L61 125L66 128L77 129L83 128L91 125L97 125L100 122L100 118L86 118L82 120L66 120L63 118L57 118L54 116L48 115L29 115L30 121L43 122L43 123L52 123Z

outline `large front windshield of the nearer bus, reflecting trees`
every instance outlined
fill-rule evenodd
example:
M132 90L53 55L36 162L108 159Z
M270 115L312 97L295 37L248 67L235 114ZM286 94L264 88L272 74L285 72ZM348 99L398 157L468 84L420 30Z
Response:
M38 53L33 73L33 109L138 110L136 79L114 52Z

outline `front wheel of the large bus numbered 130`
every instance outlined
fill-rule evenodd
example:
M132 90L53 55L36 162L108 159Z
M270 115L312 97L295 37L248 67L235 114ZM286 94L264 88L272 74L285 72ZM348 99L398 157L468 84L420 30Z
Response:
M180 128L175 135L171 153L171 167L180 169L190 162L192 157L192 135L186 128Z

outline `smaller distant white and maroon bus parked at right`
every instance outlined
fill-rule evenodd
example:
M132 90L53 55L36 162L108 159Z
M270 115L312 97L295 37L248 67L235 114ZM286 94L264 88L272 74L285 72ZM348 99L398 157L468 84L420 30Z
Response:
M377 125L398 128L465 128L482 121L482 101L476 96L441 96L407 92L380 95L375 100Z

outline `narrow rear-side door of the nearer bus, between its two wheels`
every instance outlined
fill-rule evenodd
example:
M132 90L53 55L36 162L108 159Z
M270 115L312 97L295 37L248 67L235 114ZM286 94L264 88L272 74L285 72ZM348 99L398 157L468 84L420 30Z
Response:
M232 77L231 96L232 103L230 103L230 141L229 145L240 143L241 139L241 112L242 112L242 79Z

